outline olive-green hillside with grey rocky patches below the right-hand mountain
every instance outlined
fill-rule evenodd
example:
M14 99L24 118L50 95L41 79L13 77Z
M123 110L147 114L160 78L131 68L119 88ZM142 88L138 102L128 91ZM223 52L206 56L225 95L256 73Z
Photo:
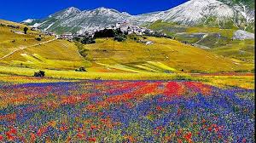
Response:
M220 29L208 26L179 26L175 23L156 21L148 26L155 31L162 31L178 41L195 44L224 57L254 63L254 39L234 40L237 29Z

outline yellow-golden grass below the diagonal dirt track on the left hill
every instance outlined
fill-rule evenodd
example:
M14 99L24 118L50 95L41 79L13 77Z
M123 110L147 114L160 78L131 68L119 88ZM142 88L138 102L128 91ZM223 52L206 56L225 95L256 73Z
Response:
M1 62L1 61L0 61ZM56 40L51 43L22 49L2 60L9 66L38 67L42 69L70 70L90 66L73 43Z

